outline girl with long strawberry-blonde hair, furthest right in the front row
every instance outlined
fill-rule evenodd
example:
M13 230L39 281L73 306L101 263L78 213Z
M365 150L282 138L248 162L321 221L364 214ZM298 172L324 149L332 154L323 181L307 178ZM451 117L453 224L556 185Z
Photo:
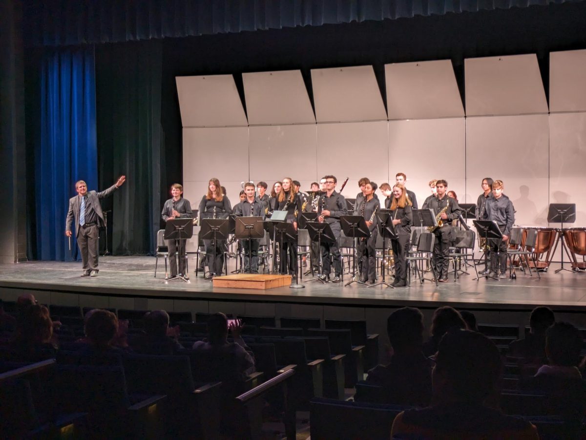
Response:
M405 187L401 183L393 186L393 201L390 204L391 219L396 235L391 237L391 247L395 260L395 281L393 287L407 285L407 253L411 238L413 212L411 200L407 197Z

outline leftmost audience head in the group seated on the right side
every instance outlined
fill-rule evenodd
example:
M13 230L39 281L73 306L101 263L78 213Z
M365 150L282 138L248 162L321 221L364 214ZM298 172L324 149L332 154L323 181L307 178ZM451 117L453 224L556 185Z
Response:
M387 319L387 335L395 353L421 351L423 346L423 313L403 307Z

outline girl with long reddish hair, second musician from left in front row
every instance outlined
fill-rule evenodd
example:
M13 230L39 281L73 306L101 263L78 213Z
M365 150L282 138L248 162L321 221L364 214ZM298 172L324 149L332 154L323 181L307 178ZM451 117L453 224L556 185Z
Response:
M210 179L207 194L202 197L199 203L200 219L227 219L232 212L230 200L222 193L220 181L216 178ZM199 224L202 224L201 221ZM203 240L206 249L206 260L209 273L206 279L212 279L222 274L224 265L224 241L216 240L216 260L214 260L213 240Z

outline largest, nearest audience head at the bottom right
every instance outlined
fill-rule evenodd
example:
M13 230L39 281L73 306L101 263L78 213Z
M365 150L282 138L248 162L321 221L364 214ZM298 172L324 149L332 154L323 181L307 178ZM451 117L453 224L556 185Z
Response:
M435 356L435 404L484 403L494 397L501 370L495 343L482 333L452 328L442 337Z

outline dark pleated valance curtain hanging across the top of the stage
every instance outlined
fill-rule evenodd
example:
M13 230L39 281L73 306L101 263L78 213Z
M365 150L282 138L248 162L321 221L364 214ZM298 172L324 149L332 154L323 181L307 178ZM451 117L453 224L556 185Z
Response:
M113 43L526 8L567 0L24 0L30 46ZM581 1L581 0L570 0Z

